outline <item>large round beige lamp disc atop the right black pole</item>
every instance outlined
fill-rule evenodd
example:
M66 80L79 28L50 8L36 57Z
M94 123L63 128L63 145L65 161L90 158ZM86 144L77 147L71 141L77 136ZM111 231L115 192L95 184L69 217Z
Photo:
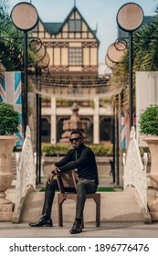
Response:
M128 3L122 5L117 14L117 23L122 30L134 31L142 25L143 11L140 5Z

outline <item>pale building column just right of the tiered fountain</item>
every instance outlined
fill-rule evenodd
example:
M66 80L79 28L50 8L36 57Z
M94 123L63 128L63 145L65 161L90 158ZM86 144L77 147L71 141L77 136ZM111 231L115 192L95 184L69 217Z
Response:
M94 115L93 115L93 143L100 143L100 113L99 113L99 98L94 99Z

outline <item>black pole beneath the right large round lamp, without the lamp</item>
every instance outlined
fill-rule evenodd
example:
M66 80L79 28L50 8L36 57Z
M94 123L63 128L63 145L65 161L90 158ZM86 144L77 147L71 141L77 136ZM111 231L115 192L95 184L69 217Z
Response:
M130 109L130 131L132 129L132 113L133 113L133 106L132 106L132 31L129 32L129 109Z

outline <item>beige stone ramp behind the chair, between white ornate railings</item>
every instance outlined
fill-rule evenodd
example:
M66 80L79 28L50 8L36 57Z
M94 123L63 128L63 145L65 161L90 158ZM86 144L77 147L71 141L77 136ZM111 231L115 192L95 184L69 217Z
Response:
M100 221L143 221L141 210L130 192L100 192ZM42 212L43 192L32 192L27 197L21 214L21 221L37 221ZM75 218L75 202L67 200L63 204L63 221ZM57 194L55 196L52 219L58 224ZM84 209L85 222L95 221L95 203L87 199Z

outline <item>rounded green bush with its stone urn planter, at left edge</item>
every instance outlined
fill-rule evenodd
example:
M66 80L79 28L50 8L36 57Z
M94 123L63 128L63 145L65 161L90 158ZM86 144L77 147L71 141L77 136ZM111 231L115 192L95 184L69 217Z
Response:
M11 186L13 173L11 156L18 138L19 114L13 105L0 102L0 221L9 221L12 217L13 204L5 198L5 191Z

